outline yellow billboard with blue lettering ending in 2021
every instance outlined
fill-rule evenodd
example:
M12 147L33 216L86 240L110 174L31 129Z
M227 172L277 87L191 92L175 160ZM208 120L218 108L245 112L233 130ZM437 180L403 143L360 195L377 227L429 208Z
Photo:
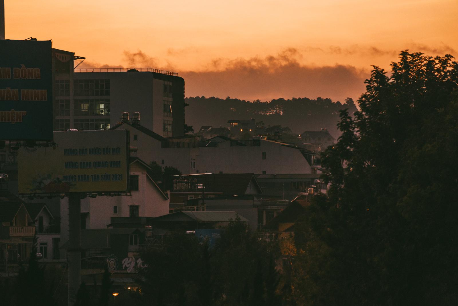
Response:
M128 191L128 133L59 131L55 147L19 148L19 193Z

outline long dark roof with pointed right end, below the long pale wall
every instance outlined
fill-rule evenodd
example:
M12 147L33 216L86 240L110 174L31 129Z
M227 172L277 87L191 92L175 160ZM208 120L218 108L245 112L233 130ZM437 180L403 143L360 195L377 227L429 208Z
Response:
M224 195L244 195L251 181L254 182L258 193L262 193L256 177L252 173L202 173L191 175L174 175L173 178L197 179L207 192L223 192Z

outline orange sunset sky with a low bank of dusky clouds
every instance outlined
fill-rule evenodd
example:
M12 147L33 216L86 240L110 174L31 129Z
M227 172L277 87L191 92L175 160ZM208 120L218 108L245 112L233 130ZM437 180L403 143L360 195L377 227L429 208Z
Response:
M458 0L5 0L5 38L80 67L178 72L186 96L355 100L400 50L458 56Z

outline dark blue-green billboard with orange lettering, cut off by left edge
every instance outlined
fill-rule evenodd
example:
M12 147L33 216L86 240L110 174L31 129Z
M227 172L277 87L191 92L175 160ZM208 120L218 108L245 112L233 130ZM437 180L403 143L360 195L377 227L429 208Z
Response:
M0 140L52 140L51 41L0 40Z

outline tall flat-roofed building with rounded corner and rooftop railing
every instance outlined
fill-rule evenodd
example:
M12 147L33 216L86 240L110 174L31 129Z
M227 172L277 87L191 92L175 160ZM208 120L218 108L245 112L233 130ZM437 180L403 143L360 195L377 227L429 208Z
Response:
M151 68L73 69L73 52L53 49L55 131L105 130L122 112L139 112L142 125L161 136L182 136L185 81Z

